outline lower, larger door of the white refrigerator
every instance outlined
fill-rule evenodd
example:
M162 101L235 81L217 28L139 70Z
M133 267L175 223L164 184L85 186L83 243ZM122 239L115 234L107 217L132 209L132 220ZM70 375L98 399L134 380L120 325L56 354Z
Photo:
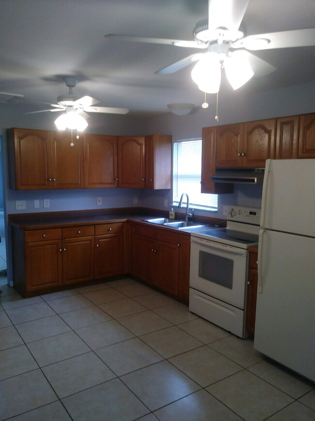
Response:
M254 348L315 381L315 238L259 234Z

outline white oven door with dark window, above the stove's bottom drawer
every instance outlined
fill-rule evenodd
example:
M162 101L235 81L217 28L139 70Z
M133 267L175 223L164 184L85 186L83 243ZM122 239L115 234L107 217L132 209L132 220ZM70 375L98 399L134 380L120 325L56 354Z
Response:
M248 251L191 237L189 285L237 308L245 308Z

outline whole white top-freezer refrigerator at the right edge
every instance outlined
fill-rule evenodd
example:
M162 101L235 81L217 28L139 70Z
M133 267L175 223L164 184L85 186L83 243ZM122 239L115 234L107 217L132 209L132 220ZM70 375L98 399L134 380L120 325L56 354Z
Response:
M266 162L254 348L315 381L315 159Z

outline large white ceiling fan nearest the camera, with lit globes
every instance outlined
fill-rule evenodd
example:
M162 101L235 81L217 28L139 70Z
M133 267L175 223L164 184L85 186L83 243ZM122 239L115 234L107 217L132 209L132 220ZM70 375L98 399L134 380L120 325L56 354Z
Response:
M192 79L208 93L218 93L221 84L221 68L234 89L245 84L252 76L267 75L276 67L249 51L305 47L315 45L315 29L275 32L246 36L242 19L250 0L209 0L208 18L197 22L193 29L193 41L148 38L119 34L105 37L131 42L165 44L176 47L203 49L155 72L170 74L197 62L192 69Z

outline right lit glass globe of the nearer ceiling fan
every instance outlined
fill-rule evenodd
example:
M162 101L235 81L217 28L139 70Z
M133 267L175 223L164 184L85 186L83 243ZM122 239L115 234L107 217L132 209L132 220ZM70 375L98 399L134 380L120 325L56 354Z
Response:
M223 62L227 80L234 90L246 84L254 75L244 51L234 51Z

